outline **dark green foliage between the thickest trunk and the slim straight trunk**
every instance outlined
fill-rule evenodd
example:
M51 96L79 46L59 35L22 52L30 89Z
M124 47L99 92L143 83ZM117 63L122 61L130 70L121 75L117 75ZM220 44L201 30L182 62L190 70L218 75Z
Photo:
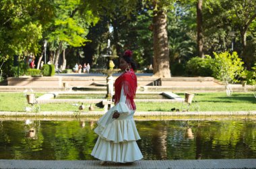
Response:
M167 13L171 63L175 61L184 63L195 56L196 43L193 38L195 36L195 28L193 27L195 13L193 13L193 7L187 6L176 3L174 5L175 10Z

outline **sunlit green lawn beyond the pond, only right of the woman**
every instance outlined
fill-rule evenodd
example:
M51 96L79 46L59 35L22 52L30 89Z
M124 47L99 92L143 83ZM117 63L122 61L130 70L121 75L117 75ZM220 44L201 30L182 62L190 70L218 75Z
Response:
M177 95L184 98L183 93ZM198 93L197 103L192 103L189 111L256 111L256 99L253 93L233 93L227 97L226 93ZM170 111L172 108L187 109L183 103L137 103L137 111Z

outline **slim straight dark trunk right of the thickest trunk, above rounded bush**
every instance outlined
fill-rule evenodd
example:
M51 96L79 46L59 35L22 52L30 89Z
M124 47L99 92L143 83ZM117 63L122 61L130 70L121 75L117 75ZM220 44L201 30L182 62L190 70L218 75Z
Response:
M203 55L203 13L202 13L203 0L197 1L197 51L200 58Z

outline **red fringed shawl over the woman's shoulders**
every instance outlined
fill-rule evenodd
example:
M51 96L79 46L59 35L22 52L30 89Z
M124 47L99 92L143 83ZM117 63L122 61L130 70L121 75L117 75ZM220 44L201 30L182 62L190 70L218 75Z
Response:
M120 101L122 87L126 95L126 105L129 109L135 110L136 105L133 99L137 89L137 77L133 69L130 69L129 72L124 72L115 80L115 105Z

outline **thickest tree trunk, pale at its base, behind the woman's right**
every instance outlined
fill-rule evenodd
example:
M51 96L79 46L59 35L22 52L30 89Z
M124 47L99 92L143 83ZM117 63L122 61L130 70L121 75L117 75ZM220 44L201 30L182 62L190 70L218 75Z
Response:
M158 9L153 17L154 76L170 78L170 58L166 12Z

